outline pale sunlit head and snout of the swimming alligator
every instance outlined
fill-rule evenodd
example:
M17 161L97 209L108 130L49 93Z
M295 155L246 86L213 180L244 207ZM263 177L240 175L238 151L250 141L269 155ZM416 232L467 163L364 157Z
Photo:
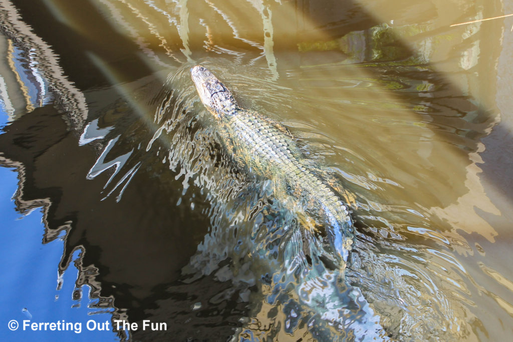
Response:
M221 81L201 65L191 68L191 78L200 95L201 102L214 115L218 111L215 104L223 98L231 97L230 91Z

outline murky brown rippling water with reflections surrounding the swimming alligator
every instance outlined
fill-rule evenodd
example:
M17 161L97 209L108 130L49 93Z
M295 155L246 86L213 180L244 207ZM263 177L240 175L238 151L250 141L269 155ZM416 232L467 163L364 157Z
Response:
M134 340L511 335L513 23L449 25L513 4L1 4L0 158L19 174L12 207L43 208L42 225L30 221L39 209L21 222L44 243L3 236L19 260L4 277L32 272L21 256L49 270L41 284L78 269L57 290L69 314L4 307L85 325L71 306L89 297L109 319L166 324L116 332ZM356 220L345 270L316 257L272 184L223 150L190 80L196 64L340 181ZM61 238L60 257L39 256ZM53 301L55 288L31 292L34 281L3 297ZM64 300L75 288L82 297ZM7 330L12 317L5 339L33 338ZM96 333L66 338L113 336Z

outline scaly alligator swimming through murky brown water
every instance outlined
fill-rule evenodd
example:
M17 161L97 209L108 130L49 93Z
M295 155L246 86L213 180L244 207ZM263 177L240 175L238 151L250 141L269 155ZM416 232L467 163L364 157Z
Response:
M228 152L251 172L274 182L274 196L312 231L323 227L326 247L347 260L352 220L333 184L302 156L282 125L238 106L231 92L209 70L191 69L192 81L208 111L218 119ZM331 254L331 253L330 253Z

